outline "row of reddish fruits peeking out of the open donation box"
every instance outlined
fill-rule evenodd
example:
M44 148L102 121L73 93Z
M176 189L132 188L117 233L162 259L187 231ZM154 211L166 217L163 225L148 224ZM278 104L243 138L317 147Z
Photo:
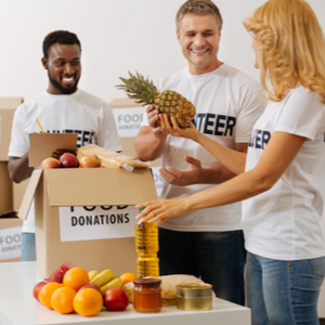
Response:
M101 167L102 161L98 155L87 155L78 159L72 153L64 153L58 159L54 157L46 158L41 165L41 169L50 168L98 168Z

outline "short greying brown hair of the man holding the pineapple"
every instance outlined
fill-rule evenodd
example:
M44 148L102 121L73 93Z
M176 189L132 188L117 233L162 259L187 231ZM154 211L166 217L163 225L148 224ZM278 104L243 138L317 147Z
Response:
M195 14L198 16L204 16L212 14L218 22L219 30L222 28L222 16L219 8L210 0L188 0L184 2L179 9L176 16L177 29L180 30L181 21L185 14Z

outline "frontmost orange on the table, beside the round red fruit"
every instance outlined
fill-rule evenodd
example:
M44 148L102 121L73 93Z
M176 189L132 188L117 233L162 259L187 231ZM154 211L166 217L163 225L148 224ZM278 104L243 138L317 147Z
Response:
M94 316L103 307L103 295L96 289L84 288L74 298L75 311L82 316Z

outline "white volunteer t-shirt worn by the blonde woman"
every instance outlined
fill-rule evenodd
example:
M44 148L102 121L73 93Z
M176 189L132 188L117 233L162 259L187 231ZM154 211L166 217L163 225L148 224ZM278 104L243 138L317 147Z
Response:
M246 170L257 165L274 131L307 140L270 191L243 203L246 249L278 260L325 256L320 226L325 198L325 105L303 87L280 103L270 102L253 127Z

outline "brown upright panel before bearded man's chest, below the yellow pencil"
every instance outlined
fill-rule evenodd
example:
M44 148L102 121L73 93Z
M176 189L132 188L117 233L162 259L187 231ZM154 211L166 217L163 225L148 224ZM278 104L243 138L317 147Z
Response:
M29 166L39 167L42 160L58 148L76 151L77 133L31 133L29 134Z

